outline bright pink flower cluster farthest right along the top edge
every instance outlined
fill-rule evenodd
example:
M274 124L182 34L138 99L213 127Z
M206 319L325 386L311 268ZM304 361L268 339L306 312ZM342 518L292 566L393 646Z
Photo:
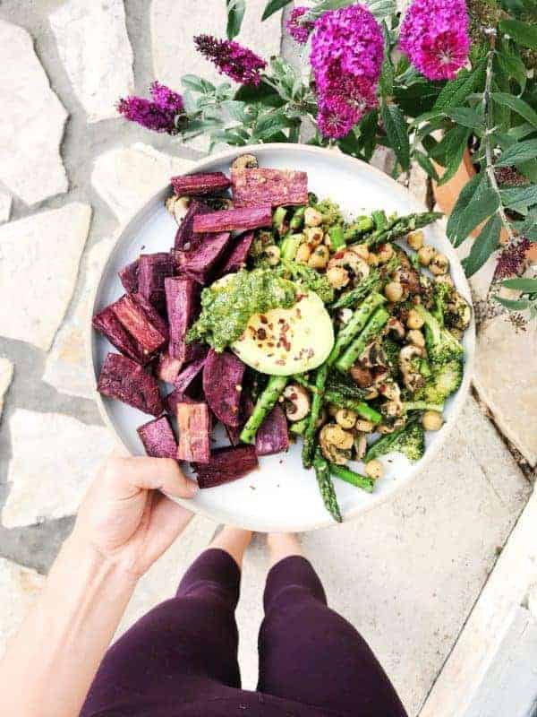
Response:
M452 80L470 50L465 0L413 0L400 47L430 80Z

